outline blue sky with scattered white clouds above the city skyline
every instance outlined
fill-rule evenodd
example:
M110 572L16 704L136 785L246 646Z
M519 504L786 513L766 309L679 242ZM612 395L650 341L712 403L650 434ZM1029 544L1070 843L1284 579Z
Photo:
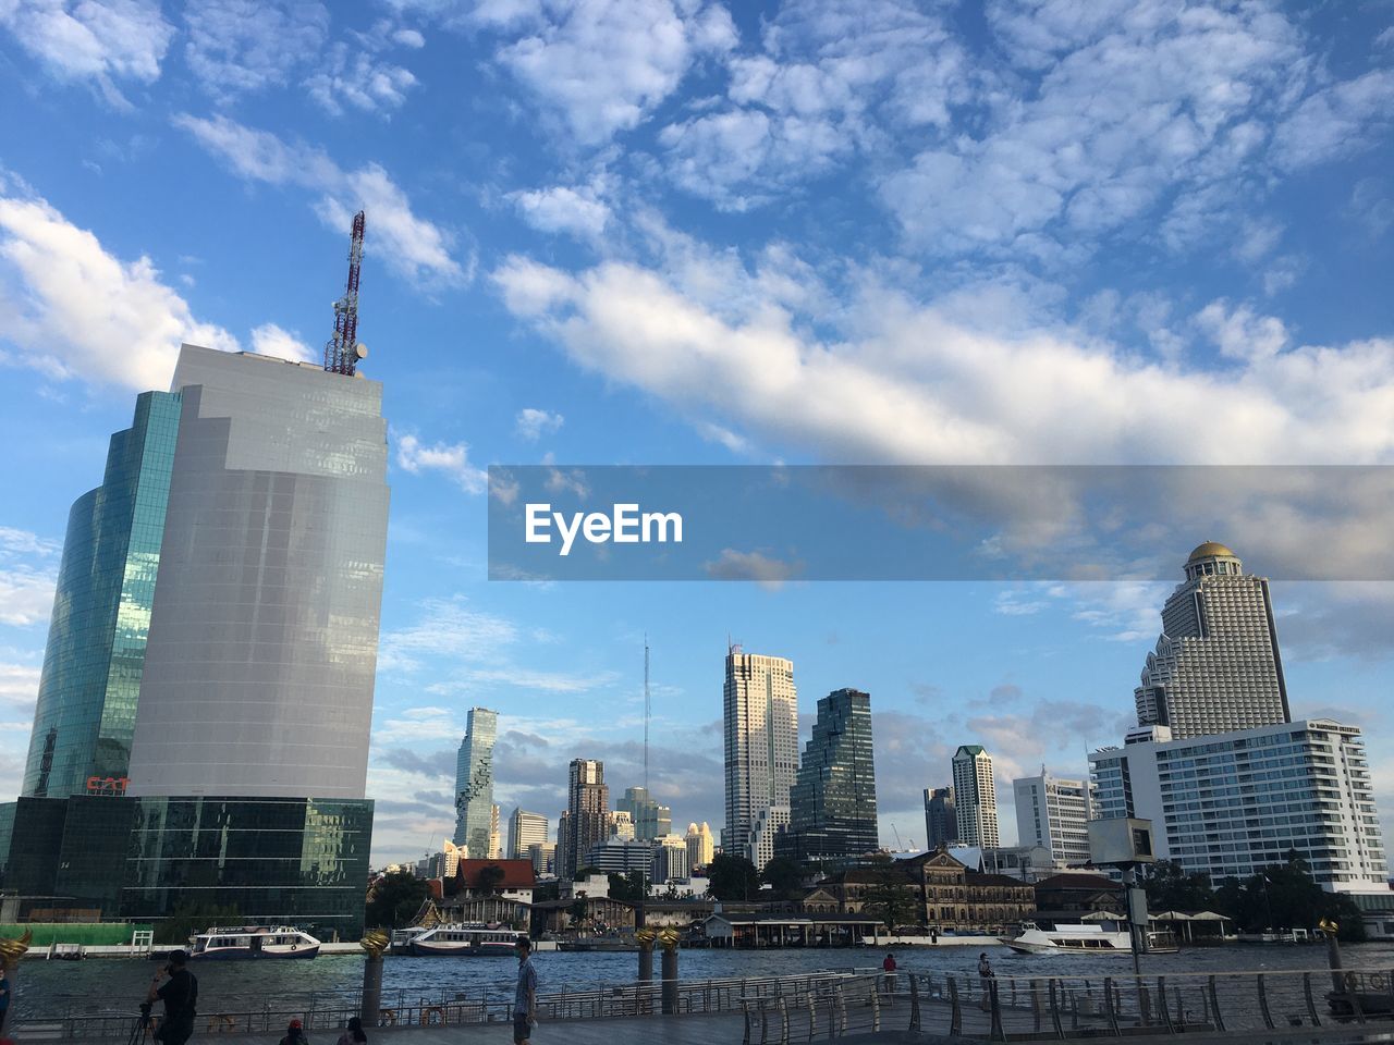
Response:
M1172 582L489 581L485 470L1391 464L1391 121L1390 0L0 0L0 800L110 433L181 341L319 358L362 208L375 862L449 835L470 706L505 816L572 758L641 783L645 635L675 825L721 826L736 641L806 733L871 694L884 844L962 743L1011 840L1013 776L1121 741ZM1250 571L1355 539L1270 529ZM1273 594L1394 823L1394 588Z

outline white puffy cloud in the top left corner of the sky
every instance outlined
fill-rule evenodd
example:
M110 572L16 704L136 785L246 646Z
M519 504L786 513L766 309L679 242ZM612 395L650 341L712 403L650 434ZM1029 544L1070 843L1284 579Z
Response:
M174 35L159 0L6 0L0 26L56 78L91 79L118 106L114 81L158 79Z

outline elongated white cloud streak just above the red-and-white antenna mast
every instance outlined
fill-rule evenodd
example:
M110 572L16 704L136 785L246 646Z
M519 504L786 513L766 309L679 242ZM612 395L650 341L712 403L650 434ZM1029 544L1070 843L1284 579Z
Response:
M289 145L268 131L223 116L205 120L180 114L174 124L244 178L322 192L315 212L335 231L347 230L355 210L367 210L368 256L386 261L403 279L460 286L473 277L473 262L461 266L450 255L453 237L418 217L407 195L379 164L344 170L319 149Z

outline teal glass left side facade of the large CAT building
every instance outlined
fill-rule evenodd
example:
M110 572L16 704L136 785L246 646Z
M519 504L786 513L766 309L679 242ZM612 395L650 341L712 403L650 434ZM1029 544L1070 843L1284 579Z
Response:
M139 396L68 514L25 796L125 791L178 418L177 393Z

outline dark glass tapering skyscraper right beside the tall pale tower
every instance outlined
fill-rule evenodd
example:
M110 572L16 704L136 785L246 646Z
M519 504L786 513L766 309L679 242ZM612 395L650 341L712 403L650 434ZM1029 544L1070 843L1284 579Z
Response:
M813 737L789 791L789 828L775 853L832 867L875 851L871 697L836 690L818 701Z

